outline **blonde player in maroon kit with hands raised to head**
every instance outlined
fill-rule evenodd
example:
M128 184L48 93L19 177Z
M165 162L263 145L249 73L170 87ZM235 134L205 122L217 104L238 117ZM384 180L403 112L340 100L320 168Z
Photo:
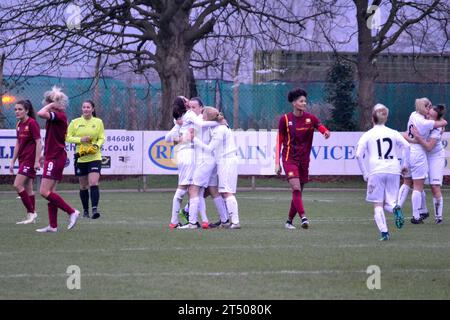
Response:
M66 134L67 116L66 106L69 102L67 96L58 87L44 94L44 107L38 111L38 116L46 119L45 145L44 145L44 169L42 173L41 196L48 200L48 218L50 225L37 229L37 232L56 232L58 208L67 212L70 222L67 229L72 229L80 215L80 212L67 204L56 193L56 185L62 179L64 166L67 160Z

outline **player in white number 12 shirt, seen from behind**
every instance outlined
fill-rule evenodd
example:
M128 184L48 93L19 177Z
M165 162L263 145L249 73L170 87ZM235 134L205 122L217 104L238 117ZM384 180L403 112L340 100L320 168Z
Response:
M397 202L400 173L407 167L409 143L393 129L385 126L389 110L382 104L376 104L372 111L373 128L364 133L358 141L356 159L367 181L366 201L374 204L374 218L381 232L380 241L390 239L389 230L384 215L384 209L394 212L396 226L401 228L404 222L402 212L394 210ZM400 156L402 149L406 149L402 169ZM369 165L363 157L368 157Z

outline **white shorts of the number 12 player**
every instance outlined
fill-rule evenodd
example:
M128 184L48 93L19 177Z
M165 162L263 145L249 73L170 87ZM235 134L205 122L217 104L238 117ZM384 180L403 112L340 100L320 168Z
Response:
M390 204L397 203L400 175L392 173L377 173L369 176L367 181L366 201Z

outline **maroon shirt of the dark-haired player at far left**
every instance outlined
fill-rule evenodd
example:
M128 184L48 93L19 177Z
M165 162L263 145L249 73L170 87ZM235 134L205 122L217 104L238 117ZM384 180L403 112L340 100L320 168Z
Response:
M36 141L41 138L39 124L33 118L17 123L17 141L19 142L19 163L28 163L33 166L36 160Z

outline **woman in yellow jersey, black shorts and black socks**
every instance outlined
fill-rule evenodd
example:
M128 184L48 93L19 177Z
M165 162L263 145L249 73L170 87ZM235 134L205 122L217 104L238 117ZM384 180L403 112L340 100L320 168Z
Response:
M100 218L98 182L102 167L101 146L105 141L105 129L96 117L94 102L86 100L81 106L82 116L73 119L67 130L66 141L76 144L75 175L80 182L80 199L83 217L89 216L89 191L92 203L92 219Z

